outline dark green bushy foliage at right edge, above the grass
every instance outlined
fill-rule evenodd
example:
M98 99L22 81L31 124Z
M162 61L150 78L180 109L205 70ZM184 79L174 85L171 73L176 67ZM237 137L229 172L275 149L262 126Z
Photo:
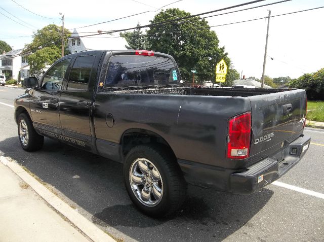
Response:
M305 89L309 100L324 100L324 68L293 79L288 85Z

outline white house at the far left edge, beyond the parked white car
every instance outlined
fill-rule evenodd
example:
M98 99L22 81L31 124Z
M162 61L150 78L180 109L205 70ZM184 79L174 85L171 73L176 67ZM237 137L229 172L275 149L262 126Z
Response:
M8 77L12 77L13 79L18 78L18 73L21 68L21 58L20 54L22 49L19 50L11 50L7 53L4 53L0 56L0 70L2 73L7 74Z

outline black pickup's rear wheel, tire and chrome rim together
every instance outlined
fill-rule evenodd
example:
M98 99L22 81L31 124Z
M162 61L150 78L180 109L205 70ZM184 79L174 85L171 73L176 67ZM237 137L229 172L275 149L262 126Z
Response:
M168 217L180 208L186 182L176 158L158 145L140 145L127 154L124 178L137 208L152 217Z

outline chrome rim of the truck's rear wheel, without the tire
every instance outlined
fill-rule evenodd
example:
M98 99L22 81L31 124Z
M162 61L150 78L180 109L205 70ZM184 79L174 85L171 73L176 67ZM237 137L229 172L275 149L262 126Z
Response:
M136 159L130 168L130 184L136 198L147 206L156 206L163 196L163 181L149 160Z

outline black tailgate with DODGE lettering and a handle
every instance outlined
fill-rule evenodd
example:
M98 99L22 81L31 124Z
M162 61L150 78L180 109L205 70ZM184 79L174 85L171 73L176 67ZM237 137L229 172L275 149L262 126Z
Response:
M263 157L287 146L303 132L306 117L306 93L291 90L251 96L252 140L250 157ZM279 145L280 144L280 145ZM264 153L264 154L263 154Z

